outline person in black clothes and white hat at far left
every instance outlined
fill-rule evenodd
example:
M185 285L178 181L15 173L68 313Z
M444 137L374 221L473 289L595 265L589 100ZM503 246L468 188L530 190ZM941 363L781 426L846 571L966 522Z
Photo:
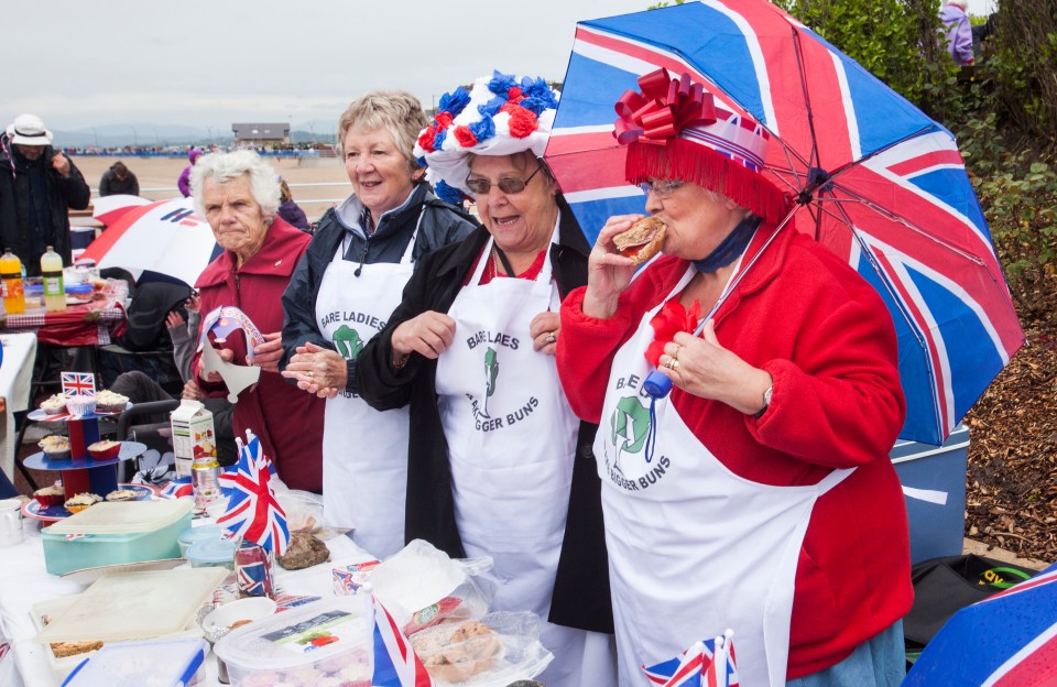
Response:
M48 246L70 264L68 209L88 207L85 177L35 115L19 115L0 137L0 240L22 260L28 275L41 273Z

